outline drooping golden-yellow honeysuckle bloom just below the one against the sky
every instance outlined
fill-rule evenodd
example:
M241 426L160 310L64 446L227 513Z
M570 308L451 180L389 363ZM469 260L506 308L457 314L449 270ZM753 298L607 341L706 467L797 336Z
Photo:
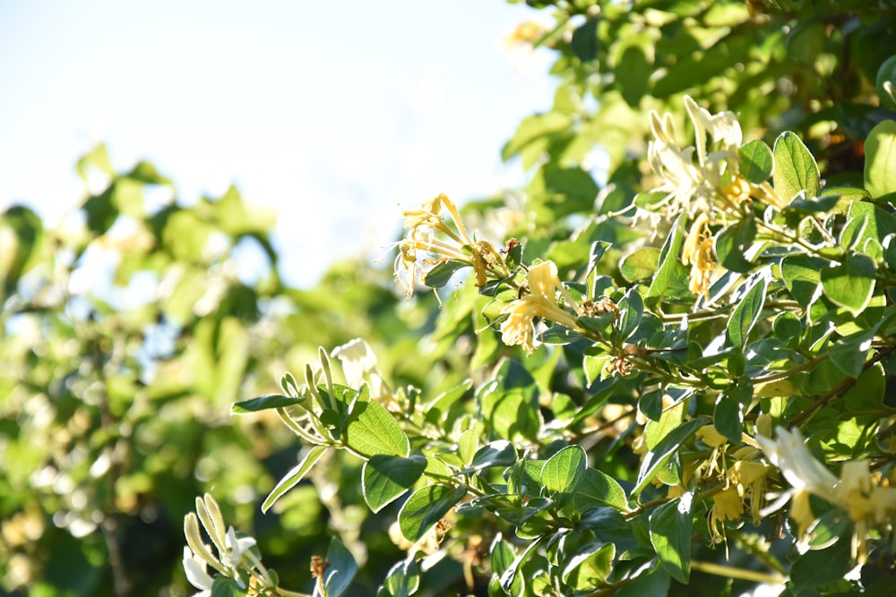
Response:
M530 294L507 303L501 311L507 315L507 319L501 324L501 339L505 345L521 345L531 354L535 350L533 320L536 317L554 321L567 328L580 329L575 317L557 304L556 293L559 292L578 315L582 315L582 307L563 287L553 261L543 261L532 266L526 278Z

